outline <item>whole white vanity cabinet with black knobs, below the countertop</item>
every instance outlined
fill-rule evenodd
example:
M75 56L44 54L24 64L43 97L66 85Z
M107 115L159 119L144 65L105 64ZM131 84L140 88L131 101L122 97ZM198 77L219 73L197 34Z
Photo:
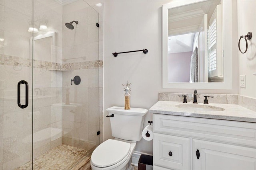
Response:
M154 170L256 170L256 123L153 114Z

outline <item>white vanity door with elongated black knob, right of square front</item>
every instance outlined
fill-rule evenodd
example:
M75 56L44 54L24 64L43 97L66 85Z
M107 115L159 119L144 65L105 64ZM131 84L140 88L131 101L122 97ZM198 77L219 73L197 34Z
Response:
M192 158L194 170L256 170L255 148L192 139Z

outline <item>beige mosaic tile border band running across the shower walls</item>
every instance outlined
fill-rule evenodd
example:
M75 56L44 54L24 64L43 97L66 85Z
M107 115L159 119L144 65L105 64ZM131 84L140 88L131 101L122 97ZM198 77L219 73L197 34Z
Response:
M102 68L103 61L96 60L96 61L84 61L78 63L54 63L49 61L41 61L41 60L33 60L34 61L34 68L42 68L42 69L56 69L56 70L81 70L81 69L93 69L93 68ZM26 59L22 57L15 57L10 55L0 55L0 64L13 66L14 69L17 70L22 69L22 67L29 67L32 68L32 60Z

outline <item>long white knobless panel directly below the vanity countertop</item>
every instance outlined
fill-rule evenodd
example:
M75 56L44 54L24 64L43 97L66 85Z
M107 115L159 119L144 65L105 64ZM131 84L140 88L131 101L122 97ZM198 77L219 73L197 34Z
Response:
M256 123L153 114L153 131L256 147Z

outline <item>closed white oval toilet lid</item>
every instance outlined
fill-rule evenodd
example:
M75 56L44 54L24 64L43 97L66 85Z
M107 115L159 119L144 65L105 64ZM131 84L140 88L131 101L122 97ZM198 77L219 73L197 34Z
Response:
M98 167L114 165L130 152L130 143L108 139L100 144L91 156L92 164Z

